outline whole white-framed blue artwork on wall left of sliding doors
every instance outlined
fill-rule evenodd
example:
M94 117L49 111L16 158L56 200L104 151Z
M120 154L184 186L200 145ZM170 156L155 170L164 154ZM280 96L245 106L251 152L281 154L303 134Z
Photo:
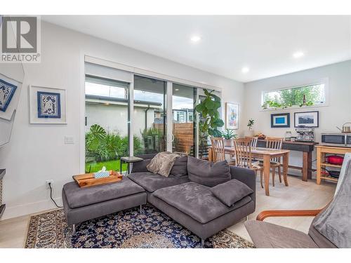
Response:
M29 86L30 123L65 124L66 90Z

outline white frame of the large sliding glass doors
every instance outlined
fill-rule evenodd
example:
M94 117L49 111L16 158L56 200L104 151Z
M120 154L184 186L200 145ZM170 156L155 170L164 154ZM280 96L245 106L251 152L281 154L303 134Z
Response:
M122 81L129 83L129 91L128 91L128 109L129 109L129 131L128 135L131 134L131 130L133 130L133 108L134 108L134 102L131 98L134 99L133 91L134 91L134 76L145 76L147 78L152 78L152 79L159 79L161 81L166 81L166 96L165 96L165 104L166 104L166 113L167 116L171 116L172 114L172 95L173 95L173 83L178 83L184 86L189 86L190 88L193 89L195 101L198 103L199 102L199 93L203 93L203 89L207 90L215 90L217 95L223 100L223 89L218 87L218 86L211 86L206 84L205 82L197 82L197 81L189 81L187 79L180 79L176 76L170 76L167 74L161 74L157 72L152 72L147 69L140 69L138 67L131 67L128 65L123 65L118 62L112 62L110 60L105 60L102 58L96 58L93 57L92 55L86 55L84 53L81 53L80 56L81 60L81 70L80 70L80 94L81 94L81 100L83 100L79 107L80 107L80 119L81 119L81 126L80 126L80 154L79 154L79 159L80 159L80 170L81 173L84 173L85 171L85 116L86 116L86 111L85 111L85 81L86 81L86 75L91 75L93 77L100 77L103 79L111 79L113 81ZM90 65L90 66L87 66ZM96 69L92 68L91 66L97 66ZM103 70L102 68L103 67ZM117 69L118 72L105 72L105 69ZM108 74L107 74L108 73ZM224 102L223 102L224 103ZM223 107L220 107L218 109L218 112L220 113L220 116L223 116ZM198 113L194 111L193 118L195 120L198 119ZM167 144L167 150L172 151L172 141L171 141L171 131L172 128L172 118L166 118L166 144ZM198 125L196 128L194 128L194 138L199 137L199 128ZM199 155L199 145L197 140L194 141L195 143L195 153L197 154L197 157ZM129 151L130 154L133 155L133 136L129 136Z

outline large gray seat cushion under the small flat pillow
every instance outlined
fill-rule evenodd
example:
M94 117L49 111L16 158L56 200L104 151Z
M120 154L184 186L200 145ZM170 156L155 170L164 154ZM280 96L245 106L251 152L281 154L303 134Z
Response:
M201 224L206 224L251 201L250 196L246 196L231 207L227 207L213 196L209 187L196 182L187 182L158 189L152 195L189 215Z

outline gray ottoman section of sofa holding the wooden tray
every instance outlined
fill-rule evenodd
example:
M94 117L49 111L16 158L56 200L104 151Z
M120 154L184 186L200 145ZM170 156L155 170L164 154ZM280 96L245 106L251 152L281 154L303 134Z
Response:
M123 177L120 182L80 188L76 182L68 182L62 189L62 202L67 224L75 224L109 215L124 209L145 205L143 187Z

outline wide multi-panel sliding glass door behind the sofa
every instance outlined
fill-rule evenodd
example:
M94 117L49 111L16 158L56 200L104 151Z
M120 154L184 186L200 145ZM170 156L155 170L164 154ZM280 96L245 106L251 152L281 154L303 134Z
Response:
M203 88L91 63L85 72L86 173L119 170L122 156L167 149L206 159L208 135L194 111Z

